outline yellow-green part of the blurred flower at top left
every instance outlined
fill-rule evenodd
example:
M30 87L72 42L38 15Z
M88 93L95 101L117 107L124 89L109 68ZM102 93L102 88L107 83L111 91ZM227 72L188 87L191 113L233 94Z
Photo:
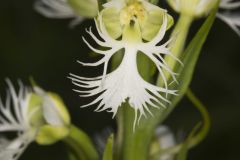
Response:
M98 14L97 0L68 0L68 3L79 16L94 18Z

